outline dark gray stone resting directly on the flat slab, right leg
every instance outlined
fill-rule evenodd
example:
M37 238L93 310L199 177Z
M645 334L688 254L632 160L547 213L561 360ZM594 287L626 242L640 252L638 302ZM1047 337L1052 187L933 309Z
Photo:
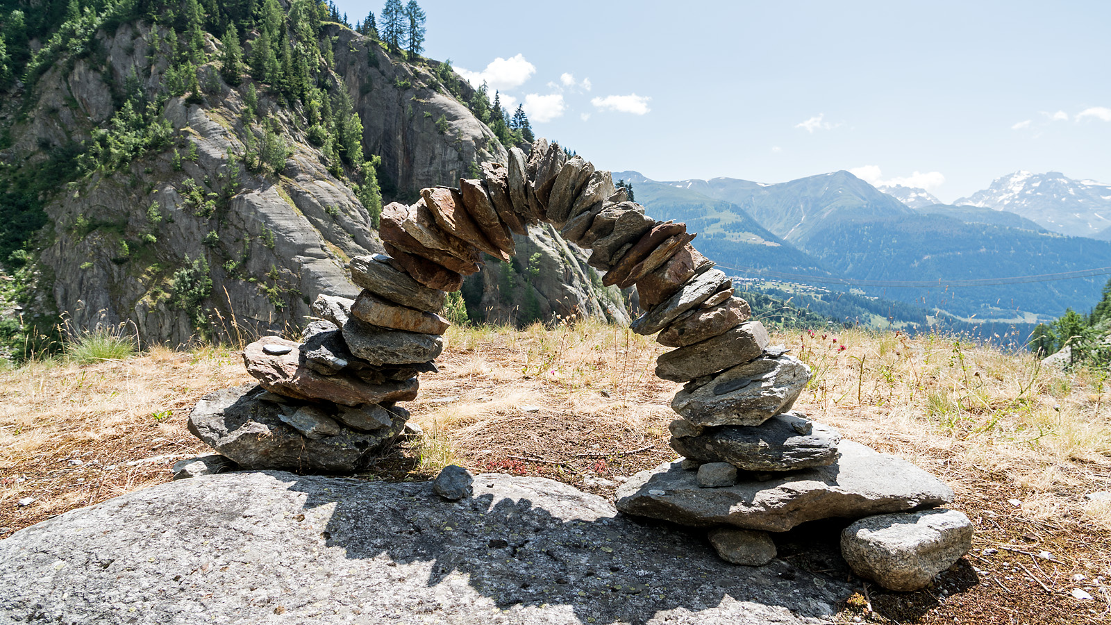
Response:
M841 435L821 424L799 434L795 425L810 423L788 413L755 427L722 426L705 428L701 435L673 437L671 448L680 455L703 463L729 463L753 472L797 470L837 462Z

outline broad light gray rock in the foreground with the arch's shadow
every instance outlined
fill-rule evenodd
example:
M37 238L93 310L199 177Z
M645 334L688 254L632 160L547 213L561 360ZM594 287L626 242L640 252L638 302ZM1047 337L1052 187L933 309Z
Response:
M721 562L537 477L233 473L171 482L0 540L0 614L61 623L814 625L852 588Z

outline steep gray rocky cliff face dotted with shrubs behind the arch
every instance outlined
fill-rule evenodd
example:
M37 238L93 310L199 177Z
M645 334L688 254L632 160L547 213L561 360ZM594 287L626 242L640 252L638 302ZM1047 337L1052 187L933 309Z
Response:
M321 30L334 62L321 60L317 85L350 95L364 150L381 157L388 199L506 161L506 148L451 95L434 63L404 62L339 24ZM14 121L4 157L46 163L61 147L87 147L97 128L118 123L129 87L156 100L172 71L168 38L164 26L124 23L96 34L99 54L54 62L30 92L9 99ZM347 260L382 251L357 189L311 140L301 103L258 83L258 103L249 102L252 80L229 86L214 60L221 44L206 38L201 98L169 98L156 111L156 122L169 122L166 145L121 167L73 176L46 202L50 224L38 240L47 277L38 286L52 291L76 329L133 321L144 343L181 345L233 336L237 327L299 328L311 315L307 294L353 295ZM26 115L16 115L20 105ZM261 153L258 145L271 135L288 148L284 165L249 171L244 155ZM528 258L509 272L517 284L533 284L537 318L578 310L623 319L614 305L607 315L581 251L554 231L529 239L522 249L540 255L532 266L543 267L543 279L522 274ZM498 300L493 286L483 284L492 292L483 300Z

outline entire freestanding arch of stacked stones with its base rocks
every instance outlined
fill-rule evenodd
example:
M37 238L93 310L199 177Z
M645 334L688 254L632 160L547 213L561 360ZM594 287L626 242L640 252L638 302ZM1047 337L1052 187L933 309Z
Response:
M507 166L487 163L480 180L384 207L387 254L350 264L362 292L353 300L320 296L318 320L300 343L267 337L249 345L243 359L259 385L206 396L190 429L246 468L361 468L404 429L408 413L398 403L417 397L418 374L436 370L447 292L479 271L483 255L510 260L513 236L540 221L590 250L603 285L635 286L645 312L632 329L675 348L659 357L655 373L684 383L671 424L671 446L683 458L629 479L618 490L620 510L711 528L719 555L747 565L775 556L769 532L863 519L871 525L857 534L867 538L849 536L850 527L842 550L881 584L910 559L932 563L911 567L913 584L928 583L968 549L968 519L930 510L952 500L945 485L790 411L810 369L769 346L730 278L690 245L694 234L684 224L648 217L610 172L546 139L528 156L510 149ZM895 547L887 559L869 559L883 542L877 536L902 526L920 529L918 547L889 536Z

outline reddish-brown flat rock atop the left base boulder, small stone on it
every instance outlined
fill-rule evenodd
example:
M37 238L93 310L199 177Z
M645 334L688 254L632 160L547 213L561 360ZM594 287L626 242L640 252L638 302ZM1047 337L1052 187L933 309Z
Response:
M350 321L349 321L350 323ZM268 354L271 351L284 354ZM300 344L279 337L263 337L243 349L243 364L262 388L294 399L327 400L344 406L410 401L417 398L417 378L401 383L371 385L348 376L322 376L301 363Z

